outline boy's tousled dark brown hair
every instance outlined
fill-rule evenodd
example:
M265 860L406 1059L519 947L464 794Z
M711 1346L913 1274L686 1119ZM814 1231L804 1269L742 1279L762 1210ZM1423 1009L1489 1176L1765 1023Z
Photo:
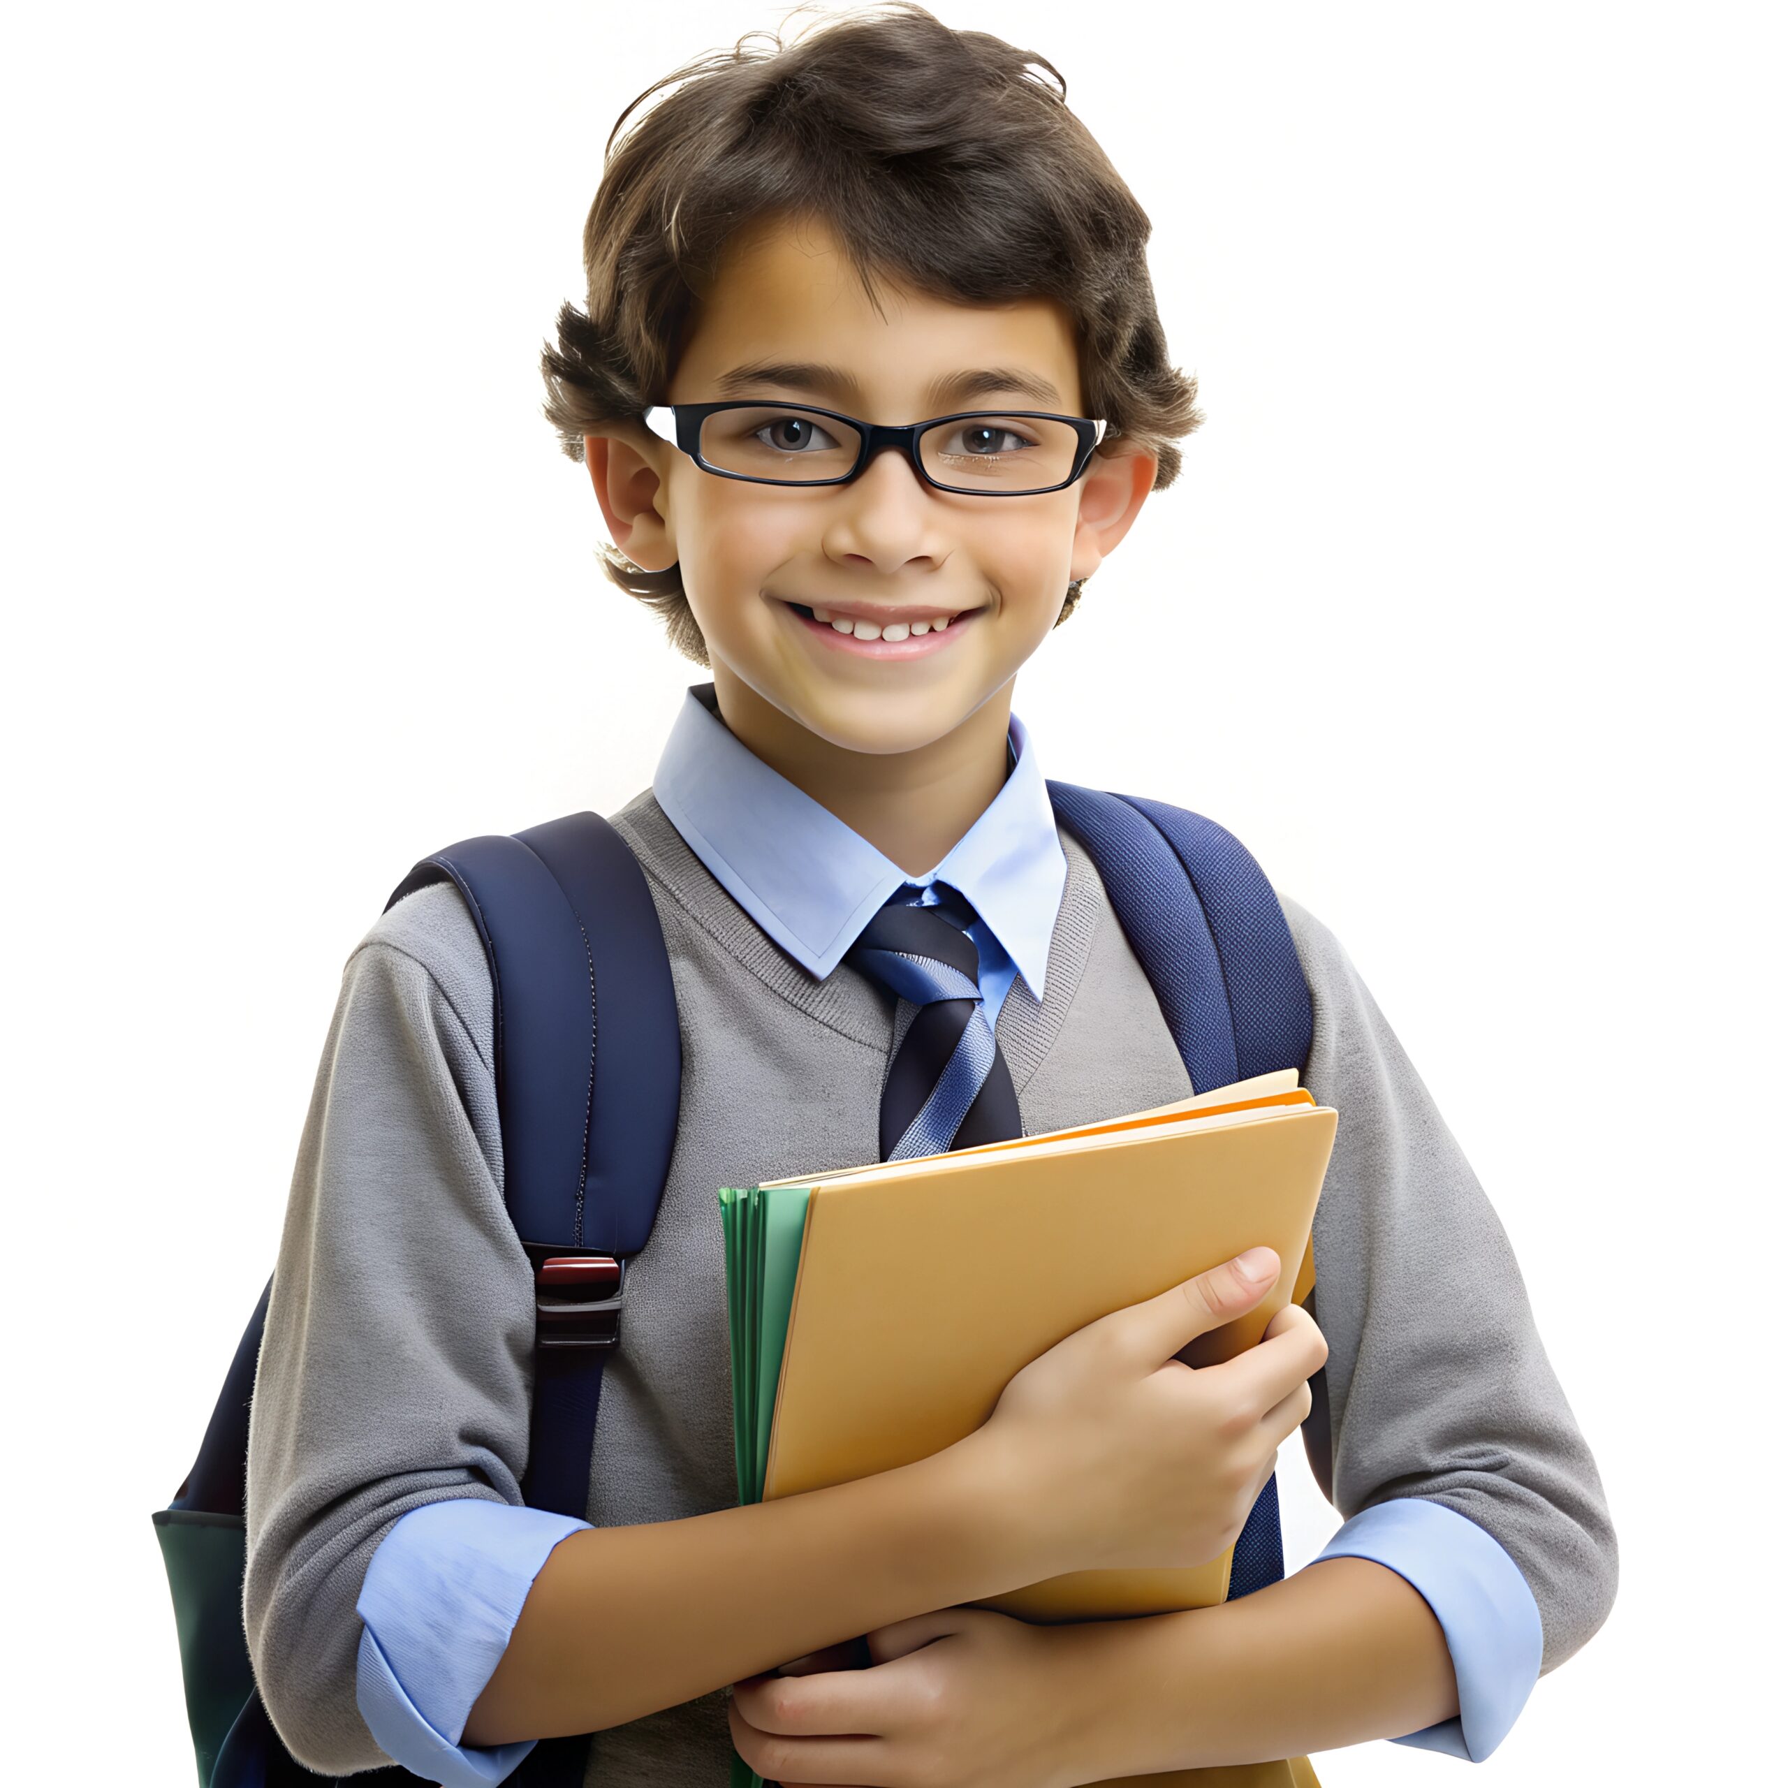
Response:
M790 43L749 32L615 120L583 231L588 311L567 304L542 354L545 415L570 458L585 434L663 402L728 240L778 213L824 220L871 295L880 274L962 304L1057 299L1075 320L1087 413L1159 456L1155 490L1173 483L1175 440L1202 418L1196 379L1168 363L1146 213L1048 61L905 0ZM642 570L606 542L601 552L670 642L706 663L679 567ZM1078 599L1076 579L1062 619Z

